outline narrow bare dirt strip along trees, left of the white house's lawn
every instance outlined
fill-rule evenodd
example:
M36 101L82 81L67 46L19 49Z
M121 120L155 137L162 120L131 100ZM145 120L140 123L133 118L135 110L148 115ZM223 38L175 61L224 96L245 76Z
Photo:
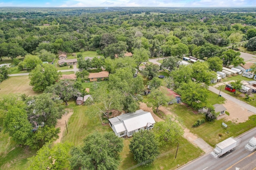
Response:
M65 121L66 121L66 123L68 123L68 119L70 118L70 116L73 113L74 112L73 112L72 109L66 109L66 113L64 115L62 115L61 119L58 119L56 128L58 128L58 127L60 128L60 133L58 134L59 138L56 141L53 142L54 144L60 143L60 140L62 138L63 132L66 129Z

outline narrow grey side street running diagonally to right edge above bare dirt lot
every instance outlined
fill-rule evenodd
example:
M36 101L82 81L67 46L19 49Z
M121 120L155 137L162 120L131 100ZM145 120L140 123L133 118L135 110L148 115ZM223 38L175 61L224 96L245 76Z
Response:
M212 86L209 86L208 90L210 90L210 91L212 91L212 92L214 92L216 94L219 94L219 92L220 92L220 90L218 90L218 89L216 89L216 88L214 88ZM230 100L230 101L238 104L239 106L248 109L248 111L251 111L254 114L256 114L256 107L253 107L253 106L251 106L251 105L249 105L249 104L247 104L247 103L245 103L245 102L243 102L241 100L238 100L238 99L236 99L236 98L234 98L234 97L232 97L232 96L230 96L230 95L228 95L226 93L220 92L220 94L222 95L222 97L226 98L227 100Z

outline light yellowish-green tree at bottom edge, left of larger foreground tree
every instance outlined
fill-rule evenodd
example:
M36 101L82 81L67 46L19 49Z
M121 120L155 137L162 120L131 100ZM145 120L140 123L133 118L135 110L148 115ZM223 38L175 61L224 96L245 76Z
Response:
M63 170L70 169L70 149L71 143L58 143L52 146L52 143L46 143L36 152L36 156L28 158L30 170Z

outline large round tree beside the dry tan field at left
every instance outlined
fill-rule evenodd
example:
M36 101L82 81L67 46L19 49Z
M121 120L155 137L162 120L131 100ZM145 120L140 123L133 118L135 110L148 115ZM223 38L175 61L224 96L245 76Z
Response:
M61 77L61 72L58 72L52 64L42 64L36 66L28 75L29 85L33 86L36 92L44 91L48 86L55 84Z

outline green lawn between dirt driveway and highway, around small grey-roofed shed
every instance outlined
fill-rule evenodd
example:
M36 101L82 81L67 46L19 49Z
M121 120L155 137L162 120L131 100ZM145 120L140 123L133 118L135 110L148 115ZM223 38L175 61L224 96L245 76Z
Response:
M212 147L228 137L236 137L253 127L256 127L256 115L252 115L250 119L244 123L233 123L231 121L224 121L223 119L220 119L214 122L206 122L199 127L192 128L192 124L197 119L204 118L203 114L197 113L196 110L193 110L191 107L186 105L175 104L168 107L183 120L184 125L190 129L192 133L204 139L204 141ZM222 122L228 125L227 129L221 126Z

